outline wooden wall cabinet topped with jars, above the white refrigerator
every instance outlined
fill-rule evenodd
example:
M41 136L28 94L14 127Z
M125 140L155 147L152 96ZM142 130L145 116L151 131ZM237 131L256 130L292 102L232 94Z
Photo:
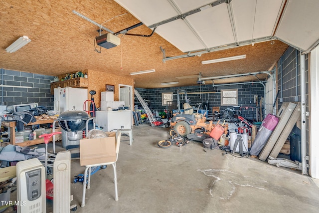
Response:
M51 94L54 94L54 88L58 87L74 87L74 88L87 88L88 79L87 74L81 71L72 74L65 74L62 77L56 76L54 82L51 82Z

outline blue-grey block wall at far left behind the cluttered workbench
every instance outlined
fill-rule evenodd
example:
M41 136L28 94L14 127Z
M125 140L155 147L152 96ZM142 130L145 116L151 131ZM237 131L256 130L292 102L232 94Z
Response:
M53 109L53 95L50 81L54 76L33 74L8 69L0 69L1 84L7 86L29 86L31 88L1 87L0 102L6 106L15 104L38 103Z

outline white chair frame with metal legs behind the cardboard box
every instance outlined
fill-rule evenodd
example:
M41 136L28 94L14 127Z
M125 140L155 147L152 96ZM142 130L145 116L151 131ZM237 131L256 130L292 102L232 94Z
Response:
M82 204L81 207L85 206L85 192L86 188L90 189L90 181L91 181L91 167L96 166L104 166L104 165L112 165L113 171L114 171L114 187L115 187L115 201L119 200L118 196L118 182L117 182L117 174L116 174L116 161L118 160L119 150L120 150L120 142L121 142L121 133L116 134L116 140L115 140L115 151L116 151L116 160L114 162L105 162L101 164L92 164L85 166L85 172L84 172L84 180L83 180L83 192L82 192ZM88 179L88 183L86 184L86 180Z

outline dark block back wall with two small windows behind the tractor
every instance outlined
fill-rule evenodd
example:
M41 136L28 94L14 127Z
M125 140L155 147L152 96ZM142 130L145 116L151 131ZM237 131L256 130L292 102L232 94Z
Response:
M173 109L177 109L177 96L176 91L180 88L187 92L187 98L190 99L190 104L193 107L197 107L197 103L202 103L203 109L205 109L204 104L208 105L209 114L212 114L213 106L220 106L220 90L221 89L238 89L238 106L242 107L242 117L247 120L256 120L256 104L254 104L253 96L258 95L259 99L264 97L264 87L260 83L255 84L242 84L242 85L229 85L229 86L217 86L217 85L194 85L185 87L169 87L169 88L157 88L157 89L142 89L135 88L139 93L145 95L145 99L151 101L151 110L163 111L167 106L162 106L161 94L165 92L173 92ZM198 92L213 92L204 94L191 94ZM142 96L143 97L143 96ZM181 96L181 103L185 102L184 95ZM135 98L135 104L141 107L141 104ZM171 109L169 106L167 107ZM233 106L220 106L220 112L223 109L231 108ZM181 106L182 109L182 106Z

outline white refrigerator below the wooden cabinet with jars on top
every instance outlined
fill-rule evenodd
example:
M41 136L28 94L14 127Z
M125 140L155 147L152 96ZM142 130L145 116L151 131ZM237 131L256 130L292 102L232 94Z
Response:
M83 111L86 100L88 100L87 89L72 87L54 88L54 110L60 113L71 110ZM88 105L86 105L86 109L88 110L87 107Z

